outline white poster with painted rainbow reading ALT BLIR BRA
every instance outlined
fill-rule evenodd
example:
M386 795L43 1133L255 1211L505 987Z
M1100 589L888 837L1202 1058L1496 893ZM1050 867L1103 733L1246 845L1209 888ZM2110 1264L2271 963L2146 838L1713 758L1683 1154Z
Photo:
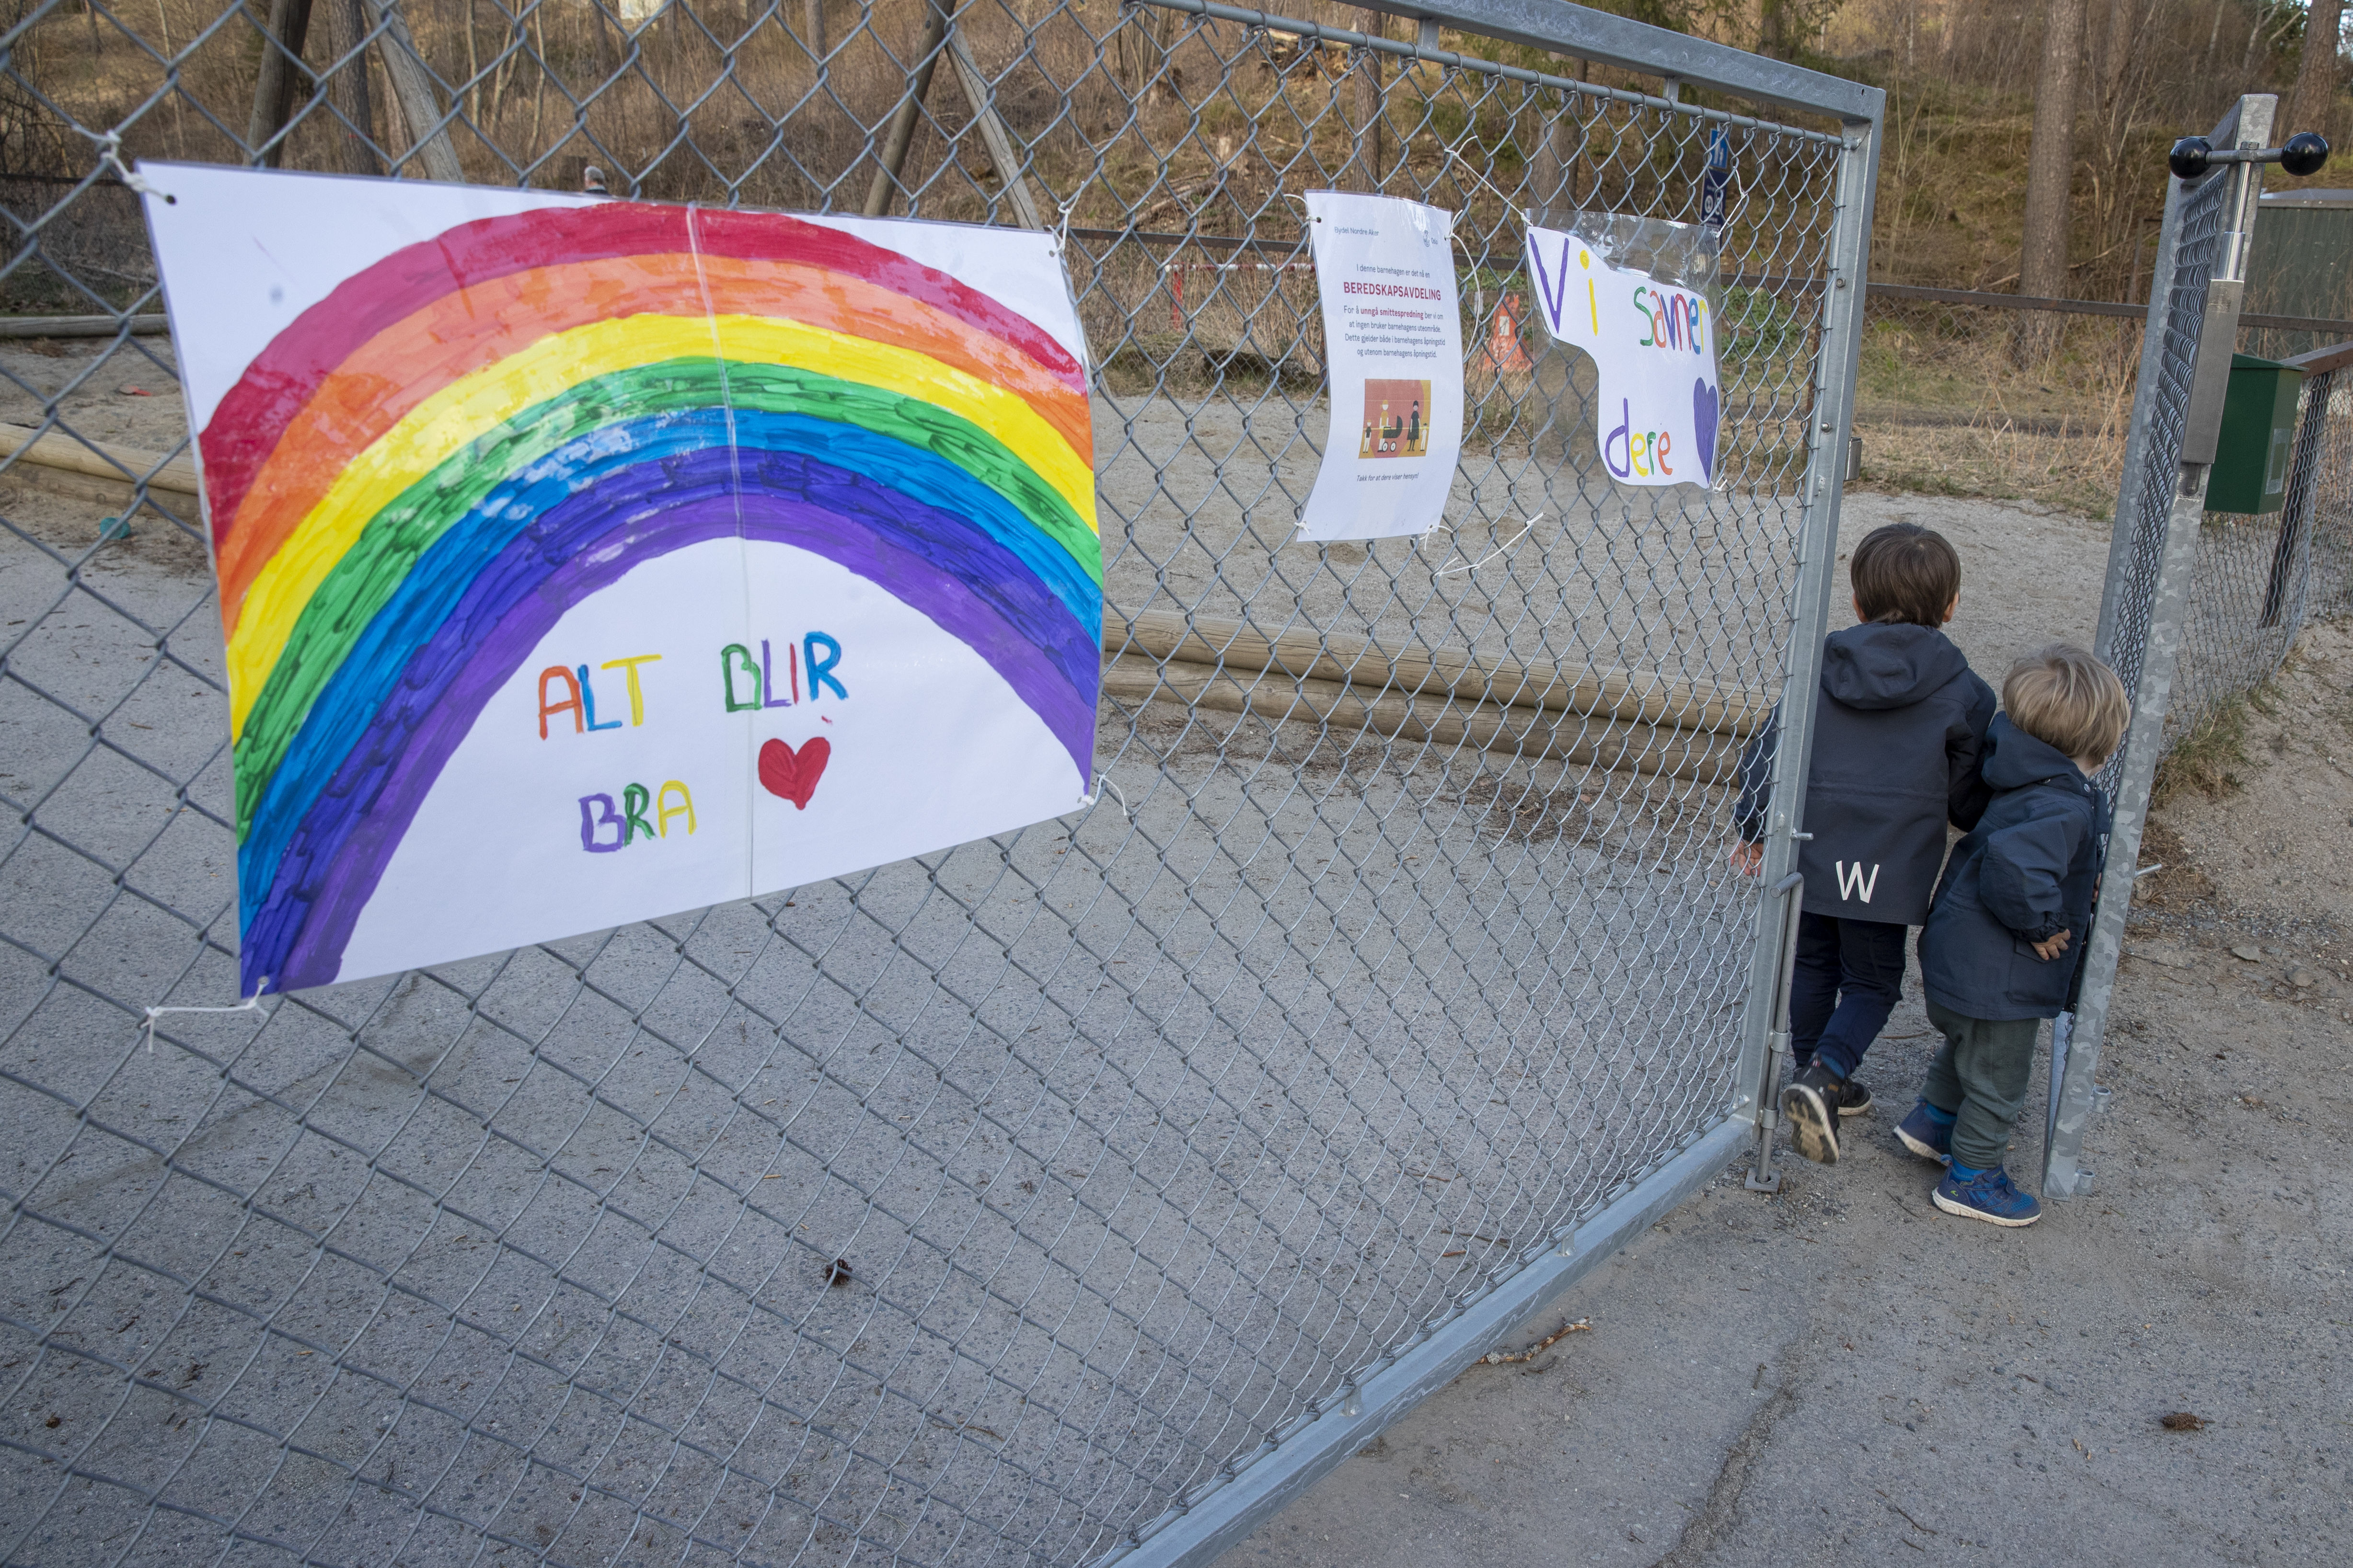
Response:
M144 174L221 592L245 994L1087 797L1104 557L1052 237Z

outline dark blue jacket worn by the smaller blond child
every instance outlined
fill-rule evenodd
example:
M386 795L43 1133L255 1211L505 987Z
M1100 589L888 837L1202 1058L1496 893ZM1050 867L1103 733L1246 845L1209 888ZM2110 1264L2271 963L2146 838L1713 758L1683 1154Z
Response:
M2092 936L2108 802L2009 715L1986 733L1986 783L1993 804L1953 849L1920 933L1920 976L1962 1018L2057 1018ZM2068 950L2038 959L2033 943L2057 931Z

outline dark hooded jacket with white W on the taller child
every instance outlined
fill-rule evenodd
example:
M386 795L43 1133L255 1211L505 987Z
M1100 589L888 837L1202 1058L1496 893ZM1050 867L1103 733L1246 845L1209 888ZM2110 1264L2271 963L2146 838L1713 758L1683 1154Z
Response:
M1993 689L1929 625L1868 621L1831 635L1800 820L1814 839L1798 844L1807 912L1892 926L1927 919L1944 825L1969 830L1986 809L1977 752L1993 705ZM1779 743L1774 712L1741 755L1734 825L1751 844L1765 837Z

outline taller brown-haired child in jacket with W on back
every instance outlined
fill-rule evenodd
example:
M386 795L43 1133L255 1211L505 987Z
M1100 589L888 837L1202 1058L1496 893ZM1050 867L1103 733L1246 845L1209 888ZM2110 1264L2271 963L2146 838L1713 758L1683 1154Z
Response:
M1847 562L1854 618L1831 632L1814 693L1798 870L1798 964L1788 1034L1795 1074L1781 1091L1791 1143L1838 1161L1838 1124L1871 1110L1854 1077L1904 994L1904 933L1927 919L1944 865L1944 825L1986 809L1977 750L1993 689L1944 635L1960 604L1960 552L1915 522L1871 529ZM1781 719L1741 757L1732 863L1762 858Z

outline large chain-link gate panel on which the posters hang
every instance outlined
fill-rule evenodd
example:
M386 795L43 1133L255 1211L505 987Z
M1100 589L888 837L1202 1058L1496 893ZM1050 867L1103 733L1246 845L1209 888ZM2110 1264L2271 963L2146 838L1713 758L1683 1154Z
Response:
M1198 1556L1722 1166L1779 950L1727 790L1812 686L1878 94L1506 12L16 7L0 1561ZM235 846L141 155L1068 226L1099 804L151 1013L235 997ZM1419 541L1292 538L1327 183L1464 214ZM1831 287L1725 296L1713 491L1614 489L1522 209L1708 200Z

